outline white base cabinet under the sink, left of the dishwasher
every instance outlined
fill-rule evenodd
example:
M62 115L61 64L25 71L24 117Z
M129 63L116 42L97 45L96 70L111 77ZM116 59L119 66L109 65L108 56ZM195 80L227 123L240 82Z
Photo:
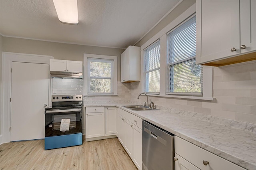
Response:
M118 110L118 139L136 167L142 169L142 119Z

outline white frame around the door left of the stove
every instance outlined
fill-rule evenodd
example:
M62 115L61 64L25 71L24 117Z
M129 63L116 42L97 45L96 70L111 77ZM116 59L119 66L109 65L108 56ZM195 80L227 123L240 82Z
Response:
M40 63L40 64L50 64L50 59L54 57L50 55L36 55L36 54L25 54L25 53L11 53L2 52L2 83L0 91L0 144L10 142L10 115L11 115L11 85L12 85L12 62L23 62L23 63ZM50 67L49 67L50 68ZM49 70L49 80L50 80L50 70ZM48 105L50 103L50 82L49 81L49 99Z

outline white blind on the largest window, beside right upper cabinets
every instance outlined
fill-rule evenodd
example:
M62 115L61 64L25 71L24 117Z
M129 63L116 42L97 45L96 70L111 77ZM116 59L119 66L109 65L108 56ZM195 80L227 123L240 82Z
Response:
M202 95L203 67L196 64L196 16L167 34L166 94Z

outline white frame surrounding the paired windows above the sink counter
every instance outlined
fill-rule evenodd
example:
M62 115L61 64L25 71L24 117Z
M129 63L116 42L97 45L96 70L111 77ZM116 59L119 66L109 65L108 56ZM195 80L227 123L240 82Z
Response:
M199 99L199 100L210 100L213 101L213 67L203 66L203 96L193 96L193 95L170 95L166 94L166 69L167 69L167 33L178 27L181 23L186 22L186 20L192 18L196 15L196 4L192 5L180 16L174 19L170 24L156 33L152 38L150 38L146 43L141 46L141 61L144 61L144 49L150 44L154 43L160 38L160 94L148 94L149 96L165 97L165 98L184 98L184 99ZM144 62L141 63L141 77L142 83L140 84L141 92L144 91Z

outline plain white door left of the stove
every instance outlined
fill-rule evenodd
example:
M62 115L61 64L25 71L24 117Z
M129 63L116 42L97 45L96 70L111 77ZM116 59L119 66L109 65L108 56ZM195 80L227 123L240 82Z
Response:
M10 141L44 138L49 64L12 62Z

